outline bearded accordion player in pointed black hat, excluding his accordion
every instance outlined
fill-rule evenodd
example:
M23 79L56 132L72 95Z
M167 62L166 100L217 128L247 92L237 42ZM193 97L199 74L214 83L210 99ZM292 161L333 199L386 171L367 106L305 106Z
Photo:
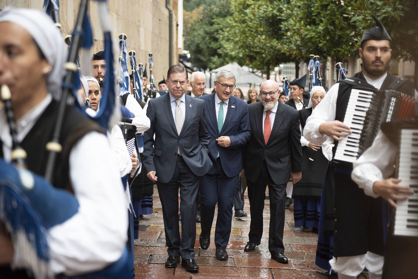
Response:
M335 161L339 142L352 133L349 126L343 123L352 88L386 90L392 87L393 82L402 80L387 72L392 40L383 24L375 16L373 18L376 27L363 33L359 48L362 71L354 78L334 84L307 119L303 130L305 138L314 144L323 143L328 136L334 138L334 159L327 171L325 187L329 187L328 178L333 178L335 197L326 195L326 210L329 208L329 212L325 214L331 216L331 226L334 225L331 228L334 231L334 258L329 264L338 272L339 279L354 279L364 267L369 271L370 279L381 278L382 274L385 227L382 222L382 198L373 199L359 189L350 177L351 163ZM411 88L408 83L399 83L405 86L391 89L413 95L413 85Z

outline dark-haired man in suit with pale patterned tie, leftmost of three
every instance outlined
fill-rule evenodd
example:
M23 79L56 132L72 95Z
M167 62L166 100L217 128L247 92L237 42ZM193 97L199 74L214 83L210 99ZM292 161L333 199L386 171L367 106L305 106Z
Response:
M188 82L183 66L168 69L169 94L148 102L151 127L144 134L147 177L157 182L163 208L168 246L166 267L176 267L182 258L187 271L198 271L194 261L196 240L196 195L199 177L212 167L207 145L204 102L184 94ZM155 134L155 139L154 139ZM178 188L180 187L181 238L178 226Z

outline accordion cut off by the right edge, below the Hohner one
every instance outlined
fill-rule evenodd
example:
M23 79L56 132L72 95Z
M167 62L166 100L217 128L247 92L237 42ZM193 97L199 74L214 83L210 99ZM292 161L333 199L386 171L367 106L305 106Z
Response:
M395 174L402 179L400 185L415 193L398 200L392 214L382 279L415 278L417 253L412 247L418 247L418 128L400 128L394 136L399 148Z

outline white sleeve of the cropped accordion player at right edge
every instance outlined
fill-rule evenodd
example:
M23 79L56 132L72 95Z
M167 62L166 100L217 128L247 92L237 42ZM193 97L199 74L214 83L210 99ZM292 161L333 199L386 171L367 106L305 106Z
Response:
M393 174L398 152L398 147L380 130L372 145L353 163L351 178L364 194L379 197L373 192L373 184Z

